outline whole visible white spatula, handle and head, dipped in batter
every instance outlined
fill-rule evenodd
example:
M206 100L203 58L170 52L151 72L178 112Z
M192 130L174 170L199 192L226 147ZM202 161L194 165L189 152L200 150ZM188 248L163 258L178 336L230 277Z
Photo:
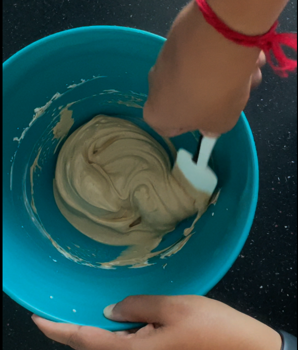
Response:
M175 171L178 168L196 190L210 196L217 186L217 176L208 166L216 141L217 137L201 136L195 156L180 149L174 165Z

